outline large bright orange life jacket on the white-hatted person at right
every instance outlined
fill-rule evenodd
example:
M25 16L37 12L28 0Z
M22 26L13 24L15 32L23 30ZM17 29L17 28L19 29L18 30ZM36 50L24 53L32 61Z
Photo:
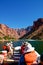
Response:
M32 65L32 63L33 63L34 61L36 61L37 55L36 55L35 51L27 52L27 53L24 55L24 59L25 59L26 65Z

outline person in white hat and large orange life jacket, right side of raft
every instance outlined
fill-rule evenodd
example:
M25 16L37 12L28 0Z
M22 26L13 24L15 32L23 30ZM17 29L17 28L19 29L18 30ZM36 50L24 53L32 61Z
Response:
M25 49L22 48L23 54L21 55L18 65L32 65L37 64L37 58L40 56L35 48L28 42L25 42Z

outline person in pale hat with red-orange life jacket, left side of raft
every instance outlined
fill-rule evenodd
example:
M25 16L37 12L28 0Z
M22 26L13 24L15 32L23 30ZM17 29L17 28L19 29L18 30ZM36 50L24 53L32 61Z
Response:
M10 43L7 43L6 45L3 46L3 50L7 51L7 56L9 58L12 58L12 55L13 55L13 44L10 42Z

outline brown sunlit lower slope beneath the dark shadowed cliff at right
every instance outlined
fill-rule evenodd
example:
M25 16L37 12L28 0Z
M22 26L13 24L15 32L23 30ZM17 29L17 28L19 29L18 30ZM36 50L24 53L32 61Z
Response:
M27 36L29 39L43 39L43 25Z

